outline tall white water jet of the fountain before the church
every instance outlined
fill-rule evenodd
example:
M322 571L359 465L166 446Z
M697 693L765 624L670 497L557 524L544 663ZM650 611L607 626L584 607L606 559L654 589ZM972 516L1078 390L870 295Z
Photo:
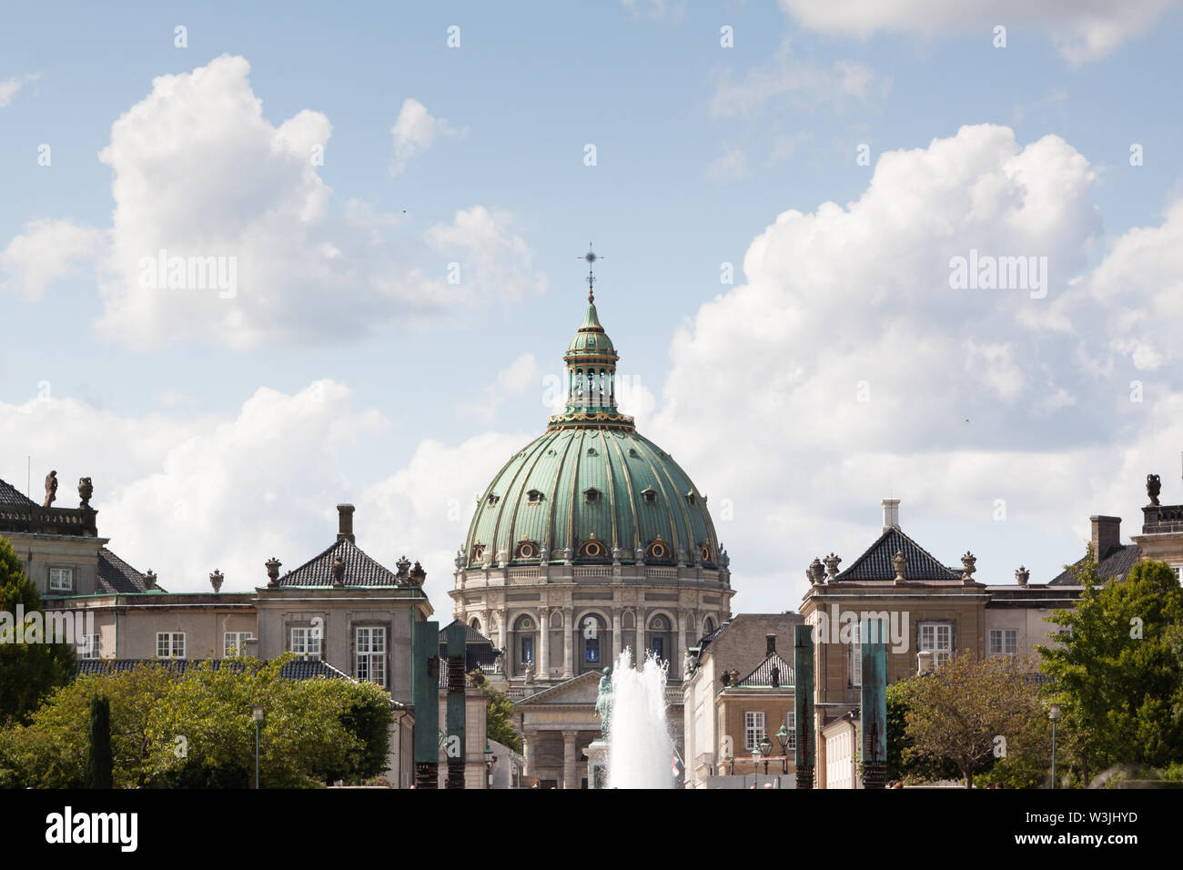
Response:
M607 714L607 726L600 746L588 747L589 758L594 752L602 760L608 788L673 788L666 665L649 656L634 668L627 649L615 664L610 678L606 674L600 682L596 711Z

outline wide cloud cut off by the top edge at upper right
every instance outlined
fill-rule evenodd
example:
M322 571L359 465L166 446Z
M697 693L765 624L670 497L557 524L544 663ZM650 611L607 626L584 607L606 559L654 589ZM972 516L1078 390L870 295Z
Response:
M806 27L860 39L887 31L925 37L977 32L989 40L996 25L1011 34L1039 28L1074 65L1106 57L1143 36L1174 6L1177 0L781 0Z

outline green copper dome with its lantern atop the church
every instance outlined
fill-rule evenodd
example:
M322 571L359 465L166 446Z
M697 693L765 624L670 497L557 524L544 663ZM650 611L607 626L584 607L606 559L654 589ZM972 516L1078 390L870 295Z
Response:
M718 567L706 498L616 410L616 359L589 301L564 356L567 410L485 489L458 566Z

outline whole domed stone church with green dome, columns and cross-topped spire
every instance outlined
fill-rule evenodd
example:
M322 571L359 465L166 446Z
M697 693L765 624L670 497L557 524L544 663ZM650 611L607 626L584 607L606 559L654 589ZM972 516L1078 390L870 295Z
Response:
M730 618L733 594L706 496L616 406L619 356L593 282L563 356L567 407L485 488L451 592L455 617L503 650L525 775L548 787L582 785L600 734L595 674L625 649L673 663L681 742L683 657Z

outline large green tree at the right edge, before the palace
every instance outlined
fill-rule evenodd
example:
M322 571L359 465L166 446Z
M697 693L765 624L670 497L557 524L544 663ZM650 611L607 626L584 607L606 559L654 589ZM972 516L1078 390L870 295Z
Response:
M1165 767L1183 760L1183 589L1166 562L1140 561L1124 581L1097 576L1092 549L1073 568L1084 586L1055 611L1056 647L1041 669L1064 704L1065 735L1080 779L1118 762Z

